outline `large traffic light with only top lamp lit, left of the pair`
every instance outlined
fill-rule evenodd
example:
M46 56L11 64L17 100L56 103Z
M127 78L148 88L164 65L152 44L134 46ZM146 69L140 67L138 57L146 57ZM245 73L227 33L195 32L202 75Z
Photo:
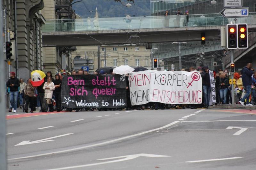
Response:
M237 25L236 24L227 25L227 46L228 46L228 49L237 48Z

